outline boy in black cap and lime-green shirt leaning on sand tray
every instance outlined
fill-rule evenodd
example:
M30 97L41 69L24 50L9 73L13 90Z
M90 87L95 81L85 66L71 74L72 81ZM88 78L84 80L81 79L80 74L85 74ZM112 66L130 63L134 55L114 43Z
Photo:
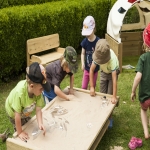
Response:
M20 81L6 99L5 109L9 119L18 137L25 142L29 136L22 130L22 126L30 120L34 109L39 129L43 130L45 135L41 111L44 106L43 89L50 91L50 84L46 81L44 67L35 62L26 68L26 80Z

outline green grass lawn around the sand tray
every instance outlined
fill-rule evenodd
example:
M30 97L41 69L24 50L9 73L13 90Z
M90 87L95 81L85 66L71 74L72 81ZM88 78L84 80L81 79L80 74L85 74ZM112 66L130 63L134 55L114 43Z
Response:
M125 57L123 58L123 65L131 64L136 66L138 57ZM75 74L74 86L81 88L82 71L79 66L78 73ZM11 81L10 83L0 83L0 133L7 127L10 128L11 135L13 134L13 128L10 124L5 113L5 100L12 88L21 79L24 79L25 75L21 75L18 79ZM116 107L113 111L113 128L108 129L96 150L110 150L110 147L121 146L123 150L128 150L128 143L132 136L142 138L143 146L141 150L150 149L150 141L145 141L143 128L140 119L140 105L138 99L133 103L130 100L131 88L135 77L135 70L123 70L118 79L118 96L120 96L119 107ZM69 78L66 77L61 84L61 88L64 89L69 85ZM96 90L99 91L99 79L97 81ZM138 92L138 91L137 91ZM6 143L2 143L0 140L0 150L6 150Z

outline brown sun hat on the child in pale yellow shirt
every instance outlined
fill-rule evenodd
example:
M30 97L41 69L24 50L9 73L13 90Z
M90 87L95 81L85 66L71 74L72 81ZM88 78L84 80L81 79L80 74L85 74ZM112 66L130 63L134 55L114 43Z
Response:
M106 39L100 39L97 41L93 53L93 60L97 64L105 64L110 60L110 47Z

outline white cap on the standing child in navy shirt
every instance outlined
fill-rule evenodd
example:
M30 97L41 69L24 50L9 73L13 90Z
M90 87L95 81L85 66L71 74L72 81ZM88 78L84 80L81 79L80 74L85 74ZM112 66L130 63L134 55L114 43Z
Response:
M92 16L87 16L83 21L82 35L91 35L95 28L95 20Z

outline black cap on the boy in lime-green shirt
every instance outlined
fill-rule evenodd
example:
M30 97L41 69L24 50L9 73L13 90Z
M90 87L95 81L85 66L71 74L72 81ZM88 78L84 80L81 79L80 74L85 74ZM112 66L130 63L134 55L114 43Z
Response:
M51 86L46 81L46 78L42 74L42 69L38 62L33 62L29 66L29 73L27 73L27 76L32 82L41 84L45 91L47 91L47 92L50 91Z

